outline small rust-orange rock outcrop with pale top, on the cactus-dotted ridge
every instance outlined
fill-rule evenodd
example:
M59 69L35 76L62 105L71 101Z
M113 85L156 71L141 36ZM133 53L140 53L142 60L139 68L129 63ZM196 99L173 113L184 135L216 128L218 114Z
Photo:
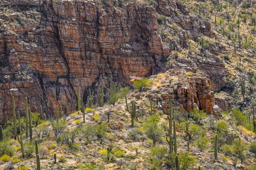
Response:
M204 110L213 114L214 92L210 90L210 80L202 74L191 73L186 75L184 69L170 69L161 78L161 87L150 91L151 100L157 99L165 113L169 112L169 95L171 102L177 109L190 112L192 109ZM157 78L155 78L157 79ZM171 79L171 83L169 80ZM153 79L154 81L154 79ZM164 91L158 94L159 91Z

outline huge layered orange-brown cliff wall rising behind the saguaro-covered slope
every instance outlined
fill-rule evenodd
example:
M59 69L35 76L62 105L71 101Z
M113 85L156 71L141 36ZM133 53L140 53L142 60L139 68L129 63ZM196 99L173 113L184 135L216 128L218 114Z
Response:
M3 112L11 112L11 96L22 113L28 97L32 112L42 105L53 113L62 105L68 114L76 109L78 83L85 92L110 75L128 83L129 76L163 70L162 58L172 47L163 45L158 33L158 13L183 27L181 48L188 47L187 34L212 34L207 21L187 15L186 5L172 0L154 6L117 0L0 3L12 9L0 14L0 122ZM176 16L177 10L183 14Z

